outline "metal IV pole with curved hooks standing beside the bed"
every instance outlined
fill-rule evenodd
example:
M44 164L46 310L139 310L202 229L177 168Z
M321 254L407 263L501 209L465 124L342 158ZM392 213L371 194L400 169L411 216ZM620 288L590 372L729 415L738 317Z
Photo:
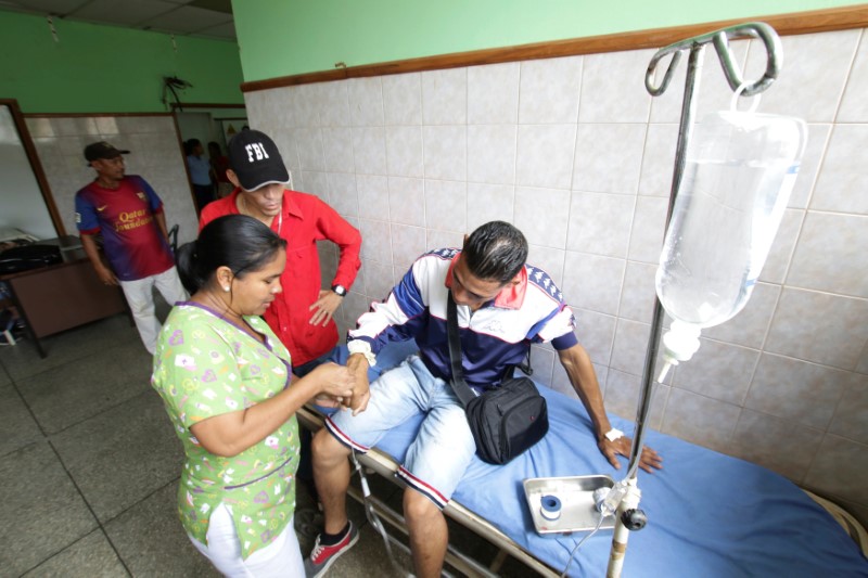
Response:
M732 57L732 52L729 49L729 40L741 38L758 38L766 47L766 70L763 77L758 80L745 84L742 79L741 70ZM717 31L710 33L687 40L681 40L666 48L660 49L648 65L648 72L644 77L644 86L652 97L659 97L666 91L672 80L673 73L678 66L681 59L681 52L689 50L687 64L687 78L685 80L685 95L681 104L681 118L678 128L678 144L675 151L675 168L673 171L672 189L669 193L669 206L666 213L666 226L664 227L664 235L669 227L669 219L672 218L673 207L675 206L675 197L678 194L678 188L681 184L681 177L687 157L687 147L690 142L690 133L692 130L693 116L695 114L694 95L698 92L700 76L702 73L702 57L705 51L705 44L712 43L717 52L717 57L726 74L727 82L733 91L737 91L744 86L742 94L752 97L766 90L771 82L777 78L780 73L782 56L780 39L774 28L765 23L746 23L728 28L722 28ZM672 54L672 61L663 76L660 86L654 85L654 73L656 66L662 59ZM661 325L663 322L663 306L660 304L660 298L654 298L653 320L651 323L651 335L648 342L648 351L644 359L644 369L642 372L642 391L639 398L639 407L636 412L636 431L633 436L633 447L630 448L630 461L627 468L627 474L624 479L618 481L612 489L607 502L610 500L620 500L617 502L617 511L615 512L615 529L612 537L612 549L609 554L609 568L607 570L608 578L617 578L621 576L621 570L624 565L624 556L627 551L627 540L631 530L638 530L644 527L647 518L644 513L639 510L639 499L641 492L637 486L636 473L639 467L639 459L644 446L644 429L648 412L651 408L651 397L653 394L653 370L658 357L658 347L660 342Z

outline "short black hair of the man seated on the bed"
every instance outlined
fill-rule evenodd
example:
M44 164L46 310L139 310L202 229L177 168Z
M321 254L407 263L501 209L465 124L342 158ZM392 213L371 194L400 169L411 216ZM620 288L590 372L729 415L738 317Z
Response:
M506 284L527 260L527 240L508 222L486 222L464 242L461 259L473 277Z

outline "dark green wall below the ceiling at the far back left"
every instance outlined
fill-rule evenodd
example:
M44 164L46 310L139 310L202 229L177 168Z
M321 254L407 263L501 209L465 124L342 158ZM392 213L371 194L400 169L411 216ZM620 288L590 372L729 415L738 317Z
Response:
M244 98L238 46L0 12L0 98L24 113L167 112L163 77L193 85L183 102L238 103Z

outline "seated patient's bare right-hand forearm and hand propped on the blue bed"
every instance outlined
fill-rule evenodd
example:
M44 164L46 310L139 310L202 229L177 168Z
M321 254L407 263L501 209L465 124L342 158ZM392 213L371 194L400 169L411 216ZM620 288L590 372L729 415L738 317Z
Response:
M573 389L578 394L578 398L585 406L588 415L590 415L591 422L593 422L593 435L597 437L597 446L609 460L609 463L620 470L621 464L617 461L617 455L629 458L631 441L626 436L614 441L610 441L605 437L605 433L612 429L612 424L609 423L609 418L605 415L603 396L600 391L600 384L597 382L597 373L590 362L590 356L588 356L584 347L576 344L567 349L558 351L558 357L563 369L566 370L566 375L570 377ZM663 467L662 459L658 452L644 446L639 460L639 467L646 472L651 472L652 467L659 470Z

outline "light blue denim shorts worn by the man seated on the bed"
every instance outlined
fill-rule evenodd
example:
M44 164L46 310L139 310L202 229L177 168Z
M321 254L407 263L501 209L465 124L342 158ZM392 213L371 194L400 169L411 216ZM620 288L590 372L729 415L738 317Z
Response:
M464 408L451 386L434 377L419 356L410 356L371 384L368 409L356 416L339 411L326 427L345 446L367 452L393 427L424 414L398 470L407 484L446 508L476 452Z

